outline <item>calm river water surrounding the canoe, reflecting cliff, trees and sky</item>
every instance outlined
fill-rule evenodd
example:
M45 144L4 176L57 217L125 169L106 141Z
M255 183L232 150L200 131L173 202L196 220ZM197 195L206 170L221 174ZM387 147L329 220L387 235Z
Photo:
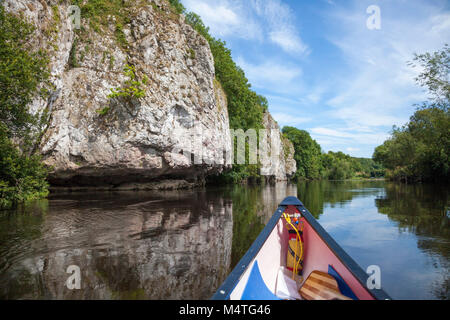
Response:
M448 187L384 181L52 194L0 211L0 299L208 299L289 195L392 298L450 299Z

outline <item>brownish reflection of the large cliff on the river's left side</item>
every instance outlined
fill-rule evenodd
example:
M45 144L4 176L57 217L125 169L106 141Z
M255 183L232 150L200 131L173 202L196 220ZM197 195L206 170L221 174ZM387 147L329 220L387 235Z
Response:
M200 299L228 274L232 204L219 194L83 194L0 216L0 298ZM81 290L65 286L70 265Z

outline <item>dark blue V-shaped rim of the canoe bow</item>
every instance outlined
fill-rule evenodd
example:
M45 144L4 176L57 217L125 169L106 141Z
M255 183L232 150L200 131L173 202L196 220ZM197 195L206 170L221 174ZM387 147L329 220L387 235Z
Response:
M310 224L312 229L319 235L322 241L328 248L336 255L342 264L350 271L350 273L366 288L367 292L376 300L391 300L391 297L383 289L369 290L366 286L369 275L353 260L342 247L328 234L328 232L319 224L314 216L305 208L305 206L295 197L288 197L277 208L272 218L266 224L264 229L258 235L256 240L250 246L250 249L245 253L227 279L223 282L220 288L212 296L212 300L228 300L231 293L239 283L241 277L256 258L264 243L270 236L273 229L278 224L283 212L288 206L295 206L305 220Z

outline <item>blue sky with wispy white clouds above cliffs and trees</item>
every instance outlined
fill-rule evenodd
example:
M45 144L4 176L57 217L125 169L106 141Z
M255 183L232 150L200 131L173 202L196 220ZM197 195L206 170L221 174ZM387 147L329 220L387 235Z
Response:
M371 157L426 100L414 53L450 43L445 0L182 0L225 40L280 126ZM376 5L381 29L367 20Z

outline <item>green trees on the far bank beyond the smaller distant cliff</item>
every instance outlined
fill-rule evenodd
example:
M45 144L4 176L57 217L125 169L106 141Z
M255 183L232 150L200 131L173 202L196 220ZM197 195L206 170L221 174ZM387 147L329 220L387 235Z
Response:
M320 145L305 130L284 127L283 134L292 141L297 162L297 180L344 180L380 178L384 168L372 159L354 158L342 152L323 153Z

